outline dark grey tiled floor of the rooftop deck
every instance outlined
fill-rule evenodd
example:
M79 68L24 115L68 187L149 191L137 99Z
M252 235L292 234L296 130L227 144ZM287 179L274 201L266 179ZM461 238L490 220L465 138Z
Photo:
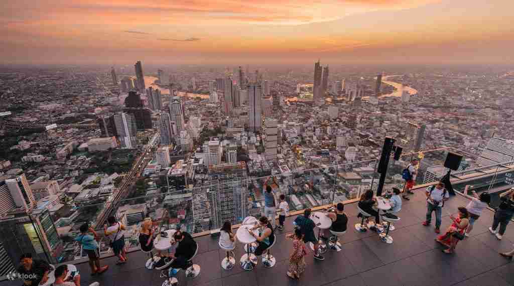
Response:
M285 238L292 231L294 216L286 219L283 232L277 231L277 242L272 254L277 264L267 269L261 261L253 271L243 271L238 263L232 270L221 268L225 253L219 249L217 238L211 236L197 237L199 254L194 259L201 266L201 272L195 279L185 277L184 271L178 274L179 285L514 285L514 263L498 254L510 251L514 242L512 226L507 228L503 240L492 236L487 227L492 222L492 211L484 211L475 222L471 237L458 243L453 255L443 253L443 249L434 241L436 234L433 227L421 225L425 219L426 201L424 188L418 187L410 201L403 201L398 214L400 221L395 223L396 230L391 232L393 244L379 240L374 232L357 233L354 224L357 218L357 204L345 205L348 215L348 231L342 237L342 251L329 250L325 261L313 259L309 251L306 271L299 281L286 276L291 241ZM458 206L466 206L468 199L461 195L451 197L443 208L442 231L450 224L449 215L456 213ZM244 250L238 244L235 250L237 262ZM87 263L77 264L82 285L99 281L102 286L155 285L160 286L163 278L159 271L144 267L146 256L140 251L129 254L129 261L116 265L116 258L101 260L108 264L109 270L102 276L89 276ZM20 285L20 281L1 282L0 286Z

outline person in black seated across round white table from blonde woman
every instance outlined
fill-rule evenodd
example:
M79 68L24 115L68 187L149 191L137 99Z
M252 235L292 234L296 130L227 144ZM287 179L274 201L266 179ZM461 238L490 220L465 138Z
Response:
M168 272L169 277L174 277L180 269L186 270L188 268L188 260L193 257L198 247L196 241L187 232L177 231L173 238L178 242L175 254L168 255L174 258L171 263L170 271Z

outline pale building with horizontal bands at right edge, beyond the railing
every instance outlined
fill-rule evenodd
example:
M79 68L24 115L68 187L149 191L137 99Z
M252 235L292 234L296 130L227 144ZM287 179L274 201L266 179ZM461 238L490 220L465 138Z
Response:
M480 165L487 166L513 160L514 140L492 137L477 161Z

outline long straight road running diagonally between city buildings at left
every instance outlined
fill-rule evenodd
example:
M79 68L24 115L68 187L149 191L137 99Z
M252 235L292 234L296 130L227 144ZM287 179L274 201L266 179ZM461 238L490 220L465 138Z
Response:
M144 148L144 151L142 154L136 159L136 162L132 166L132 169L130 170L130 173L128 173L121 183L121 186L115 190L115 193L113 194L113 199L108 201L106 203L105 208L103 209L102 213L97 218L97 223L95 225L95 228L98 228L102 226L105 223L105 220L113 210L115 209L116 205L119 203L120 200L123 200L126 197L126 191L127 189L135 183L137 178L141 175L141 171L146 167L146 165L152 160L154 154L154 147L157 145L158 138L160 137L160 132L156 132L152 139L146 144L146 147ZM150 156L148 156L150 155ZM146 159L146 157L149 157L150 159Z

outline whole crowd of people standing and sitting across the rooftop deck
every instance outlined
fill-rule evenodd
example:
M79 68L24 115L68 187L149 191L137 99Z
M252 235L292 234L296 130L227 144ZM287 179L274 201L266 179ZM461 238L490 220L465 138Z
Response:
M404 176L406 180L403 190L393 188L389 197L391 208L388 211L380 212L377 207L377 198L374 197L372 190L364 192L358 202L358 207L370 217L365 218L370 228L378 233L383 231L380 225L380 216L396 215L401 210L402 199L400 195L403 193L403 199L410 200L408 197L409 192L412 193L413 176L415 176L415 168L412 166L417 165L417 160L411 161L411 164L404 170L409 173L409 176ZM273 242L277 239L276 231L284 230L285 218L289 214L289 206L285 201L285 196L276 196L276 192L272 186L266 181L264 187L265 197L265 216L262 216L252 227L248 228L248 232L256 240L256 248L253 251L255 256L264 255L269 250ZM434 232L440 234L440 226L442 223L442 209L445 202L450 198L445 184L438 182L437 184L428 187L425 190L427 200L427 214L426 220L423 225L429 226L432 222L432 213L435 213L435 228ZM501 203L494 214L491 227L489 231L494 234L499 240L502 239L506 227L514 215L514 188L500 195ZM466 207L458 207L457 212L449 216L452 223L443 234L438 235L435 240L444 245L443 252L451 254L455 251L457 244L470 235L473 230L473 224L482 215L482 212L491 202L491 196L487 193L478 195L476 192L471 192L471 198ZM337 203L331 208L327 209L326 216L331 220L332 225L329 230L320 232L319 237L322 240L331 240L331 247L337 242L337 237L329 237L327 231L331 233L344 233L347 229L348 217L344 212L344 204ZM278 216L278 224L276 224L276 215ZM359 215L361 215L359 213ZM117 264L126 263L128 260L125 249L124 231L125 226L118 222L115 217L107 218L108 224L104 225L104 234L109 238L111 247L114 254L118 257ZM289 265L287 269L287 276L291 279L300 279L302 273L305 271L305 256L308 254L306 243L313 243L314 259L324 260L325 258L319 251L319 241L315 235L315 227L313 219L311 219L311 209L307 208L303 215L298 215L293 222L295 229L292 233L287 234L285 237L292 241L292 252L289 255ZM139 243L141 250L150 252L154 248L154 239L156 232L156 224L150 218L145 219L139 231ZM219 245L225 250L229 250L233 254L233 250L237 245L237 237L234 234L233 227L230 221L226 221L220 230ZM89 266L91 276L100 275L108 270L108 265L101 266L100 253L99 253L99 236L96 231L88 224L83 224L80 227L80 234L75 238L82 245L82 249L89 259ZM180 270L186 270L191 265L191 259L195 255L198 244L191 236L191 234L182 231L175 231L172 239L170 239L170 248L173 247L171 253L157 253L161 257L160 265L155 266L156 269L165 269L160 274L161 277L174 277ZM512 259L514 257L514 250L510 252L500 253L502 256ZM264 260L263 260L264 261ZM44 260L32 259L30 253L24 254L20 258L20 267L17 269L20 274L34 274L33 279L26 279L24 285L40 285L48 280L48 274L53 271L55 277L54 286L80 286L80 275L69 275L68 266L66 264L60 265L57 269L48 264ZM264 262L263 262L264 263ZM91 286L99 285L98 282L91 284Z

